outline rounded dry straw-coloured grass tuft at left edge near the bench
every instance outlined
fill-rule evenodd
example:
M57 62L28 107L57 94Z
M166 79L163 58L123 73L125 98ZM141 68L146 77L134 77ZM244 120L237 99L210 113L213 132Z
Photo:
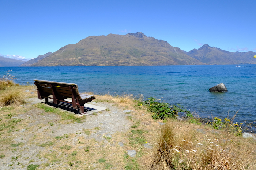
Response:
M17 86L8 87L0 94L0 104L3 106L25 103L24 94Z

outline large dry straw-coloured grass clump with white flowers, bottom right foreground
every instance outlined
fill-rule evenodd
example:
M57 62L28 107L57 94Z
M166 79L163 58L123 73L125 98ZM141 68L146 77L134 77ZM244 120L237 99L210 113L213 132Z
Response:
M173 122L161 126L155 146L148 157L150 170L244 170L251 169L254 149L238 149L231 140L206 137L190 127Z

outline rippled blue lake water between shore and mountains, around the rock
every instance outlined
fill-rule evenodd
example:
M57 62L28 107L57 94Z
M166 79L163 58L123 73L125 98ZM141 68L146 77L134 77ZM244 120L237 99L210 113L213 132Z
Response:
M80 92L143 94L181 104L200 117L223 119L239 110L236 121L256 120L256 65L0 67L0 77L9 69L19 84L34 79L76 83ZM228 92L210 93L219 83Z

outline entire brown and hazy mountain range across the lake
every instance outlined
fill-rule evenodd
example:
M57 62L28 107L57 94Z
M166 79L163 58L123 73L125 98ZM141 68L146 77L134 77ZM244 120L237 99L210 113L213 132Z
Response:
M254 55L256 53L252 51L229 52L210 47L208 44L198 50L186 52L171 46L167 41L137 32L126 35L89 36L54 53L48 52L27 62L20 61L20 66L239 65L256 64Z

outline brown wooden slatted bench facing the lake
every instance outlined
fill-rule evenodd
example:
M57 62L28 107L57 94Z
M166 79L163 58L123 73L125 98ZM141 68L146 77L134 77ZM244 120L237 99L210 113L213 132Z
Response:
M52 99L53 103L60 102L72 104L72 107L79 109L80 113L84 113L84 104L95 99L94 95L79 94L78 86L74 83L52 82L45 80L34 80L37 86L37 95L39 99L45 99L48 104ZM72 98L72 102L64 99Z

